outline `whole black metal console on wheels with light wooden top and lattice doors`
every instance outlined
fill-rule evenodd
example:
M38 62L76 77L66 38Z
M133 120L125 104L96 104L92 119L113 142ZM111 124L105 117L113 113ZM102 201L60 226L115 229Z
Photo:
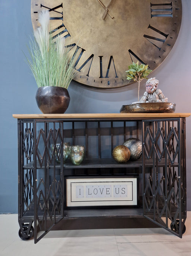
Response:
M132 228L135 220L163 227L182 238L187 216L185 125L189 116L13 115L18 119L19 237L28 240L34 236L37 243L52 229ZM128 138L142 141L142 155L138 160L118 163L112 158L113 148ZM80 165L73 165L69 159L64 163L64 142L85 146ZM77 184L74 190L73 179ZM132 182L123 181L131 179L135 186L129 190ZM83 183L92 186L94 194L99 188L100 195L103 184L116 186L116 196L120 185L125 184L121 192L126 188L126 196L134 201L124 199L125 195L109 201L109 188L106 198L90 200L90 190L88 195L81 195Z

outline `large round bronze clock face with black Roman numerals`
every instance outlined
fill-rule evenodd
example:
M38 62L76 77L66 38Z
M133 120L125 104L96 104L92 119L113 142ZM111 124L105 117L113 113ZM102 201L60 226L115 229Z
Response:
M181 0L31 0L33 28L38 13L50 11L54 36L77 45L75 81L90 87L128 85L132 61L156 69L179 33ZM133 81L132 81L133 82Z

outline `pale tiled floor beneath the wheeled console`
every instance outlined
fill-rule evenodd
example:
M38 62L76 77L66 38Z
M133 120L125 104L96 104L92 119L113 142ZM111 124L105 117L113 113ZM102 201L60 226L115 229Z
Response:
M191 256L191 211L180 239L162 228L50 231L37 244L18 237L18 215L0 215L0 256Z

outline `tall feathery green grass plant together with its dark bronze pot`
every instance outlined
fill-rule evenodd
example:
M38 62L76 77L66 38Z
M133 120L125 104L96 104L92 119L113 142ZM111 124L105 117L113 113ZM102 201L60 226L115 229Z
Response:
M60 36L54 38L50 27L50 14L43 10L41 24L34 30L26 60L38 85L37 105L43 114L63 114L69 106L68 87L76 75L74 68L78 51Z

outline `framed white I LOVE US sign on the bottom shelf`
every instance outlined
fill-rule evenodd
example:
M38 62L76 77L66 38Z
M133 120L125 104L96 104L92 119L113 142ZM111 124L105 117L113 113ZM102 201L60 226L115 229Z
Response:
M66 206L137 205L137 178L67 178Z

